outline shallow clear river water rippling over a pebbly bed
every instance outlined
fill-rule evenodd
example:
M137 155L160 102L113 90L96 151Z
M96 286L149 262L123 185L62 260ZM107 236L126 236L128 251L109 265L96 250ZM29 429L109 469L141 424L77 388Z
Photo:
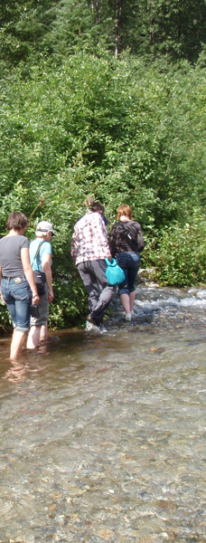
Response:
M0 341L0 543L201 543L206 292L137 290L108 334Z

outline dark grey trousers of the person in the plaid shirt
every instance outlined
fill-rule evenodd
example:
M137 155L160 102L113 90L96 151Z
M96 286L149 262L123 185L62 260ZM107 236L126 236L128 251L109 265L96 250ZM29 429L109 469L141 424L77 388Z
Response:
M90 317L97 323L102 321L116 292L116 288L108 284L106 270L105 259L80 262L78 264L80 277L89 294Z

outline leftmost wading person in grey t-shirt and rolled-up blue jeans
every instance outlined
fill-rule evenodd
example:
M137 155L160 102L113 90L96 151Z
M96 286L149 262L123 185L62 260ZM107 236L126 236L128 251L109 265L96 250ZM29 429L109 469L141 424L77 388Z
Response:
M29 258L29 241L23 235L29 222L23 213L14 212L7 220L8 233L0 239L1 300L13 319L14 333L10 358L15 360L23 338L30 328L30 306L39 302L39 295Z

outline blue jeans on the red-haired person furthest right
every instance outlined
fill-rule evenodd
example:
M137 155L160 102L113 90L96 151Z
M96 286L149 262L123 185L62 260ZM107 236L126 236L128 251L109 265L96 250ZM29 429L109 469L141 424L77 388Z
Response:
M117 262L120 268L125 271L126 281L118 285L119 294L129 294L136 290L135 281L140 266L138 252L118 252Z

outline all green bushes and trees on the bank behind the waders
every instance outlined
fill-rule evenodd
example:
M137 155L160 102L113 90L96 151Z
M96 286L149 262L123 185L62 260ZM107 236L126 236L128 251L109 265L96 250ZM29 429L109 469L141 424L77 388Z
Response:
M0 11L1 235L14 210L30 218L29 239L42 218L54 224L52 328L87 313L70 240L89 195L108 230L131 205L153 280L206 281L204 2L13 0Z

